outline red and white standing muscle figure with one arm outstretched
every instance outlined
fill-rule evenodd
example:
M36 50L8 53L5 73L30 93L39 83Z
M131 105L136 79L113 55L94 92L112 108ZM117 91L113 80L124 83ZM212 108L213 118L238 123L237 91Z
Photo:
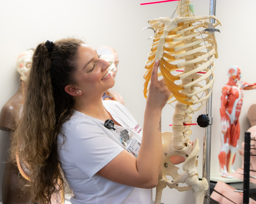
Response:
M239 115L243 102L242 90L256 89L256 83L240 81L241 68L231 66L228 69L228 83L222 88L221 117L221 149L219 154L220 172L222 177L233 178L233 164L238 148L240 125Z

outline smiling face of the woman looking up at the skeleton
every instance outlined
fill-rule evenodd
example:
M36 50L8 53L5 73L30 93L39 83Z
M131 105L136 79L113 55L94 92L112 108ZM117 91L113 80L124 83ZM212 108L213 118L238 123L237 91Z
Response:
M96 50L81 44L78 48L75 81L77 88L86 96L102 95L115 84L115 79L108 72L109 62L100 59Z

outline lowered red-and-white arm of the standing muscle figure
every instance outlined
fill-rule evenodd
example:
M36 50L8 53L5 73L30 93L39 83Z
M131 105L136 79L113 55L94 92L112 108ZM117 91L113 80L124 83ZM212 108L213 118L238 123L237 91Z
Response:
M224 86L222 89L221 103L220 103L220 121L221 132L225 134L227 132L227 119L226 119L226 105L228 102L228 95L230 94L230 87Z

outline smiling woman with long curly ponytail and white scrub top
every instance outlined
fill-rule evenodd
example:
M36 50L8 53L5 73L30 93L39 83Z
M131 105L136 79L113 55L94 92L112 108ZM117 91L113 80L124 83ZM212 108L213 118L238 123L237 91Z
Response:
M123 105L102 101L115 83L107 67L77 39L37 46L12 140L13 158L19 155L30 172L33 202L50 203L63 188L62 170L72 204L152 202L162 153L161 112L171 93L158 81L156 61L142 131ZM108 119L113 129L105 126ZM138 154L127 151L129 141L137 141L137 148L141 142Z

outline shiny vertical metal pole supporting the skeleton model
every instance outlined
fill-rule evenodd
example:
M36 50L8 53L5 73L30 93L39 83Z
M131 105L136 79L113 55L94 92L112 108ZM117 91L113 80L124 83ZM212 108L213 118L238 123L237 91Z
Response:
M209 9L209 15L215 15L216 13L216 0L210 0L210 9ZM215 19L210 19L210 23L215 23ZM211 68L210 66L209 68ZM210 76L210 80L212 80L212 76ZM208 91L211 91L209 89ZM204 153L203 153L203 177L206 178L206 180L209 183L210 188L210 161L211 161L211 137L212 137L212 94L208 98L208 101L206 102L206 114L208 114L210 118L209 126L206 127L204 130ZM210 189L206 191L206 196L204 199L204 204L209 204L209 199L207 199Z

